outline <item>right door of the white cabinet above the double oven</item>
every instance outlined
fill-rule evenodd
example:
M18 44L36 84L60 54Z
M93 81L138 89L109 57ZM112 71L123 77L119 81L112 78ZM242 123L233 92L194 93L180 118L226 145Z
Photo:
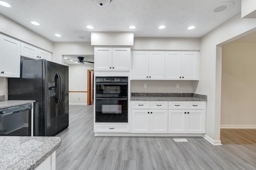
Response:
M130 48L112 49L112 69L114 71L130 71Z

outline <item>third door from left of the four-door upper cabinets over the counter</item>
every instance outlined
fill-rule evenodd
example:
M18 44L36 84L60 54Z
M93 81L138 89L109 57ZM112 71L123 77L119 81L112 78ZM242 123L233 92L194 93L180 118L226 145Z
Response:
M165 52L165 79L181 79L181 51Z

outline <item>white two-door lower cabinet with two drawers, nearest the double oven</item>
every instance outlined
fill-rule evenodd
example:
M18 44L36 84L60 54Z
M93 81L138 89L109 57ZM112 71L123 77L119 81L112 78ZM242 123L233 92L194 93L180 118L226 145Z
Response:
M167 133L167 103L149 101L133 102L132 133Z

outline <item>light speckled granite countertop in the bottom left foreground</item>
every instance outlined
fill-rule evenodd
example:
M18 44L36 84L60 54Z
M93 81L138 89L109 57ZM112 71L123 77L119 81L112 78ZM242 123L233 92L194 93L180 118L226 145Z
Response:
M33 170L61 144L59 137L0 136L0 169Z

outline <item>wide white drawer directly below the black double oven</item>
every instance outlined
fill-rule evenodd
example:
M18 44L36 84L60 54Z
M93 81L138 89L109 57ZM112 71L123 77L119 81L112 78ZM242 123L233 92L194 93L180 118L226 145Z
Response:
M130 125L94 125L94 132L130 132Z

